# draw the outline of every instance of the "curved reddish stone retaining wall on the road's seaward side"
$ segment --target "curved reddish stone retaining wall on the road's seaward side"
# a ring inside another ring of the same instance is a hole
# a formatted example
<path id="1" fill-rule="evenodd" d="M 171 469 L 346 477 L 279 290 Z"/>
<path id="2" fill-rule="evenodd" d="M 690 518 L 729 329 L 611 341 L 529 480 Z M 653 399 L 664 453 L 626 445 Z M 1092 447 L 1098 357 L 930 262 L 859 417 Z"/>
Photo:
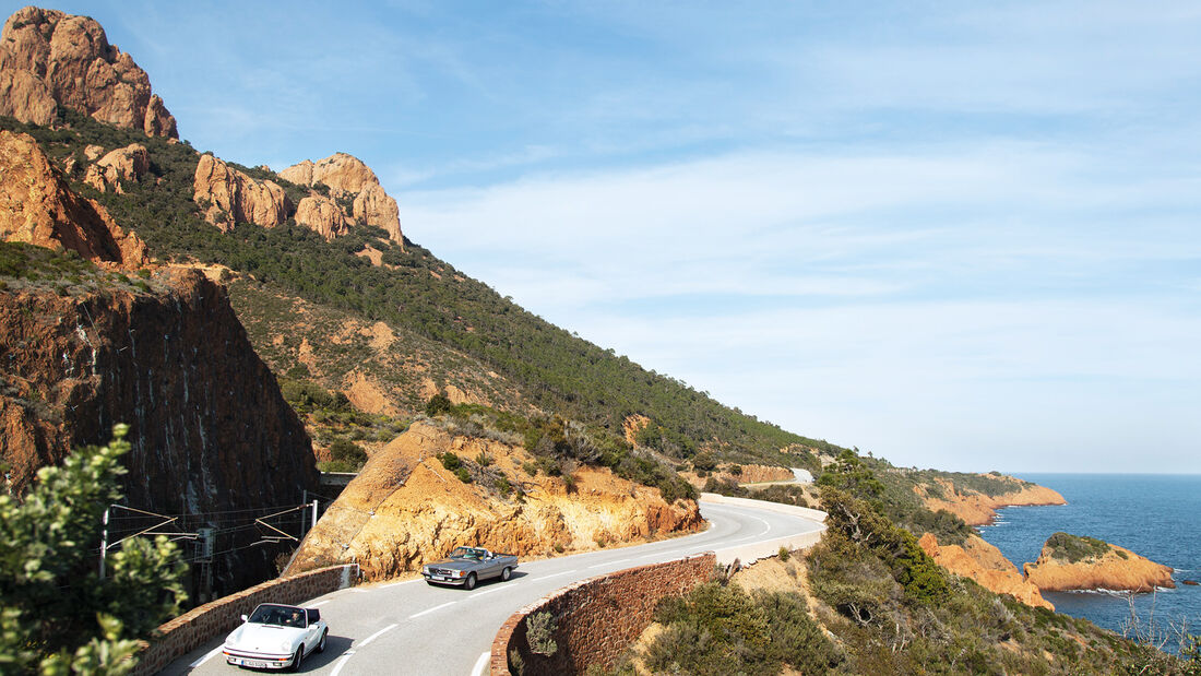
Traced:
<path id="1" fill-rule="evenodd" d="M 685 594 L 713 576 L 713 554 L 667 563 L 627 568 L 600 575 L 532 603 L 513 614 L 492 641 L 491 674 L 509 674 L 509 651 L 516 650 L 526 676 L 584 674 L 588 665 L 605 669 L 651 623 L 659 599 Z M 549 612 L 555 618 L 552 638 L 558 646 L 545 657 L 530 650 L 526 617 Z"/>

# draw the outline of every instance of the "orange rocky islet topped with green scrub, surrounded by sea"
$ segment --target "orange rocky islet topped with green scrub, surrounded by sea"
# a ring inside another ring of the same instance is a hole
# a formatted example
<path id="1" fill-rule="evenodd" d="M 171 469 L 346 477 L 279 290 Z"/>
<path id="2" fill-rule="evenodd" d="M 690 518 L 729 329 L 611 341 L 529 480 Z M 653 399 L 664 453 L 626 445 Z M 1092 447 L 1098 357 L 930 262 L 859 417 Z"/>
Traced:
<path id="1" fill-rule="evenodd" d="M 1047 538 L 1039 560 L 1024 566 L 1026 579 L 1045 592 L 1125 590 L 1149 592 L 1176 586 L 1172 569 L 1137 554 L 1068 533 Z"/>

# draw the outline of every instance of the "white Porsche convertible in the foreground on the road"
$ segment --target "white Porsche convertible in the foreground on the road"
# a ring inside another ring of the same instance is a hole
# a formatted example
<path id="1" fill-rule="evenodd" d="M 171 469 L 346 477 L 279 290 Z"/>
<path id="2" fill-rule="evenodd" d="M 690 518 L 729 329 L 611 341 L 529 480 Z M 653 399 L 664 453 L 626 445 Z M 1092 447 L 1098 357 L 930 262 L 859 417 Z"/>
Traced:
<path id="1" fill-rule="evenodd" d="M 229 664 L 295 671 L 305 656 L 325 650 L 329 627 L 317 609 L 264 603 L 241 620 L 221 648 Z"/>

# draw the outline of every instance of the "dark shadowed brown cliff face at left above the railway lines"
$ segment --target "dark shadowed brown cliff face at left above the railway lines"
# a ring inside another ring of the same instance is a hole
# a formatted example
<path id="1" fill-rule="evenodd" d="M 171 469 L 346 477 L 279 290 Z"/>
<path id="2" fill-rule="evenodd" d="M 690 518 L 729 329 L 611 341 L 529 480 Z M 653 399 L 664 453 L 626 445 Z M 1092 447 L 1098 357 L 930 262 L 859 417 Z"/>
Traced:
<path id="1" fill-rule="evenodd" d="M 225 289 L 186 268 L 150 283 L 150 292 L 0 291 L 0 459 L 11 466 L 10 490 L 127 423 L 125 504 L 204 515 L 181 520 L 184 530 L 227 530 L 232 510 L 299 505 L 318 484 L 311 442 Z M 262 534 L 247 527 L 219 537 L 215 592 L 275 575 L 285 548 L 251 544 Z"/>

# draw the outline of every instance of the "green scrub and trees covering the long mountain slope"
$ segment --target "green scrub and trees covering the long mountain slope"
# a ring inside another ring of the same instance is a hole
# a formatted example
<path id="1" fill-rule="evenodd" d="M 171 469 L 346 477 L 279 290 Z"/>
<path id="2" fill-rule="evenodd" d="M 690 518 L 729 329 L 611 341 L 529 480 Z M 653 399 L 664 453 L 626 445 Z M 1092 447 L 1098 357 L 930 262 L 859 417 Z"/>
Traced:
<path id="1" fill-rule="evenodd" d="M 489 388 L 495 390 L 489 401 L 498 407 L 555 413 L 609 436 L 621 435 L 627 415 L 646 415 L 652 421 L 645 435 L 649 447 L 669 457 L 687 459 L 713 449 L 730 461 L 779 465 L 788 460 L 779 449 L 790 444 L 837 450 L 722 406 L 680 381 L 579 339 L 462 275 L 428 250 L 411 241 L 401 247 L 380 228 L 359 227 L 327 241 L 289 219 L 275 228 L 239 223 L 222 233 L 202 220 L 192 202 L 199 152 L 186 142 L 147 138 L 66 109 L 60 114 L 67 124 L 56 130 L 12 119 L 0 120 L 0 128 L 30 133 L 48 155 L 62 166 L 73 166 L 73 187 L 136 231 L 151 255 L 227 267 L 246 280 L 243 286 L 232 285 L 232 292 L 239 318 L 264 353 L 270 353 L 267 341 L 274 336 L 261 330 L 269 319 L 262 300 L 268 294 L 303 299 L 327 312 L 383 322 L 396 335 L 407 336 L 398 349 L 420 343 L 440 367 L 470 367 L 478 378 L 491 372 L 496 376 L 491 381 L 502 383 Z M 124 195 L 100 192 L 82 183 L 85 146 L 113 149 L 135 142 L 147 148 L 150 173 L 141 181 L 123 183 Z M 74 162 L 68 162 L 72 158 Z M 304 195 L 303 189 L 264 168 L 238 168 L 283 186 L 293 202 Z M 378 252 L 380 265 L 358 256 L 368 247 Z M 313 335 L 324 339 L 328 334 L 315 328 Z M 271 363 L 279 375 L 297 365 L 285 358 Z M 325 376 L 333 383 L 345 373 Z M 398 406 L 411 413 L 423 403 L 420 397 L 410 397 Z"/>

